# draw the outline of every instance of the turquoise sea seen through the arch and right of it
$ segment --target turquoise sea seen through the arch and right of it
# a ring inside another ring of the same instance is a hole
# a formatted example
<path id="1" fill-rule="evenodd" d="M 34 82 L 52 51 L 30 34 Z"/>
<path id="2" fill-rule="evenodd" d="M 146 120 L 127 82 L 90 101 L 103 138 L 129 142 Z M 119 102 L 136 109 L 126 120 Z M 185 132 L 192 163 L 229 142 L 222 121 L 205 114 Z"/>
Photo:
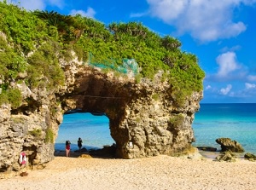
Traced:
<path id="1" fill-rule="evenodd" d="M 246 153 L 256 153 L 256 104 L 201 104 L 192 124 L 195 147 L 217 147 L 220 137 L 238 141 Z M 65 141 L 71 141 L 77 150 L 79 137 L 86 149 L 102 148 L 114 143 L 106 116 L 90 113 L 65 114 L 55 141 L 55 150 L 65 150 Z"/>

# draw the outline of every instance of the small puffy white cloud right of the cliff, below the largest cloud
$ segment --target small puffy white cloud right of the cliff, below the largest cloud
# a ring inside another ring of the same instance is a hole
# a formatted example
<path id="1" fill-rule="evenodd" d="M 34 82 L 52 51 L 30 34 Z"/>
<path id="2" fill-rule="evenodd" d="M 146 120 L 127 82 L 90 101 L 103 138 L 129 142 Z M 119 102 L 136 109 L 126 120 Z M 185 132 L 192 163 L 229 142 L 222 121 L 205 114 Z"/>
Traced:
<path id="1" fill-rule="evenodd" d="M 219 78 L 227 78 L 230 72 L 234 72 L 236 69 L 240 68 L 234 52 L 229 51 L 222 55 L 218 55 L 216 61 L 219 66 L 217 73 Z"/>

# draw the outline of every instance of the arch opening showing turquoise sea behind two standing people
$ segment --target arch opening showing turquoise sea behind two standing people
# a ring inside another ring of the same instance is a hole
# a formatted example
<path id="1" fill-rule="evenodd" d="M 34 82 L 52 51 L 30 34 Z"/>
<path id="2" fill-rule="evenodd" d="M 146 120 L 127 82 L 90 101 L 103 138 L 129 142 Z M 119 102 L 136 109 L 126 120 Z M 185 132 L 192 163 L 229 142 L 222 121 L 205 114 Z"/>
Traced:
<path id="1" fill-rule="evenodd" d="M 82 139 L 82 153 L 110 147 L 115 141 L 110 135 L 109 118 L 102 112 L 67 112 L 55 140 L 55 152 L 65 151 L 65 142 L 71 142 L 71 151 L 79 152 L 78 140 Z"/>

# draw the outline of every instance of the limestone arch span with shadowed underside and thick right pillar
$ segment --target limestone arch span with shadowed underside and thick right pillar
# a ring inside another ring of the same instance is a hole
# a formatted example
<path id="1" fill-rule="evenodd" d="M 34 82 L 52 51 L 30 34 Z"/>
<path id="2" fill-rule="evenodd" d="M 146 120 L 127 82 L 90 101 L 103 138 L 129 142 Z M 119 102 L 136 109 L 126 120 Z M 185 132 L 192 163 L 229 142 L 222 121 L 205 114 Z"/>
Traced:
<path id="1" fill-rule="evenodd" d="M 104 112 L 119 158 L 174 155 L 195 141 L 191 124 L 199 109 L 201 92 L 177 106 L 170 84 L 120 76 L 84 67 L 75 75 L 72 92 L 60 96 L 64 111 Z"/>

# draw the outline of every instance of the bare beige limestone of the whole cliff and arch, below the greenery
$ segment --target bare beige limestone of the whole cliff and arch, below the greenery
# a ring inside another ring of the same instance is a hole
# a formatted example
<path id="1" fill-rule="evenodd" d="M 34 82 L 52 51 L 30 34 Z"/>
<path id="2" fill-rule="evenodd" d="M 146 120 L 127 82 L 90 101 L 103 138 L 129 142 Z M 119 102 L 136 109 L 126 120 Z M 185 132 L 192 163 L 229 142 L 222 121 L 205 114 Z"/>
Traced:
<path id="1" fill-rule="evenodd" d="M 202 93 L 195 92 L 177 106 L 170 84 L 159 77 L 136 83 L 129 75 L 118 76 L 77 60 L 61 61 L 66 83 L 58 90 L 22 91 L 23 104 L 0 108 L 0 170 L 20 170 L 25 151 L 29 165 L 38 168 L 54 158 L 54 143 L 64 112 L 104 112 L 120 158 L 143 158 L 181 153 L 195 141 L 191 124 Z M 160 74 L 160 73 L 159 73 Z"/>

